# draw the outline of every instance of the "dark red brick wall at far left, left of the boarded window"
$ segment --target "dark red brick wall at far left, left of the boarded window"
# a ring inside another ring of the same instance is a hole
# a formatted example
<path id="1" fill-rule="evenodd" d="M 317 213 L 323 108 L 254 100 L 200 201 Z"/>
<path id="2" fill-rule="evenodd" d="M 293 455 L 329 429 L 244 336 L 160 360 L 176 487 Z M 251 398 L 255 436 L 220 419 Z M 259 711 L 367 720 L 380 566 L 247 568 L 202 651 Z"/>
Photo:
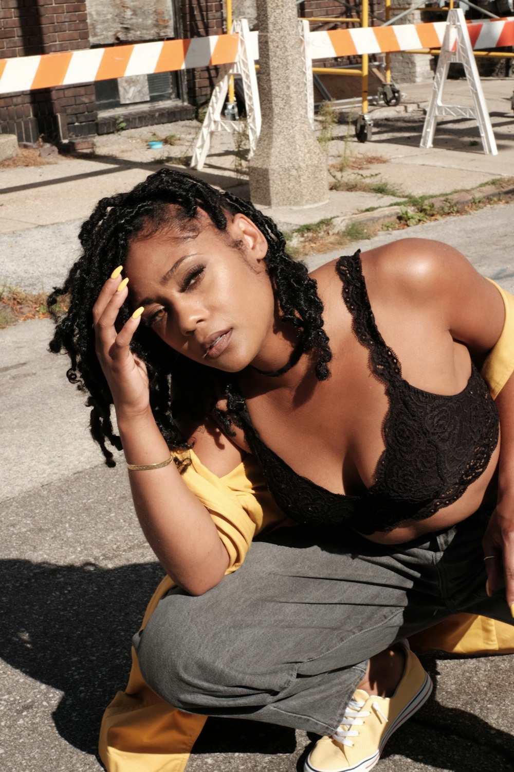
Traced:
<path id="1" fill-rule="evenodd" d="M 85 2 L 0 0 L 0 58 L 87 48 Z M 0 131 L 20 142 L 94 134 L 95 121 L 92 84 L 0 97 Z"/>

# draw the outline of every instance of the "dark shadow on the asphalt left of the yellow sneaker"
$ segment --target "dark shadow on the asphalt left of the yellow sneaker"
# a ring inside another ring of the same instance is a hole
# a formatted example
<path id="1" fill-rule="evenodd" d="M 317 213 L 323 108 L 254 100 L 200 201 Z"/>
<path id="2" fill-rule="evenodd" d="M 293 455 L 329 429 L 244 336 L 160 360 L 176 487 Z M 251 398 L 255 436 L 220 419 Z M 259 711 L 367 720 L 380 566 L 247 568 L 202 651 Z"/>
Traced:
<path id="1" fill-rule="evenodd" d="M 157 563 L 103 568 L 0 560 L 0 657 L 63 692 L 66 742 L 96 754 L 102 713 L 129 676 L 130 641 L 163 576 Z M 292 753 L 294 730 L 210 720 L 195 753 Z"/>

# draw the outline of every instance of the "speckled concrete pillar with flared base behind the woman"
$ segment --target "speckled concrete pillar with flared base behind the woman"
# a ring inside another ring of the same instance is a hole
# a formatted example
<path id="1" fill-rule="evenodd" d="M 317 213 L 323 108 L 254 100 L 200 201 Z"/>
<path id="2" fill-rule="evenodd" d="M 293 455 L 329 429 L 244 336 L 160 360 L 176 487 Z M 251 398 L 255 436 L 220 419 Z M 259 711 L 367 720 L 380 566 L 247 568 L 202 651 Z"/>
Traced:
<path id="1" fill-rule="evenodd" d="M 262 128 L 249 166 L 250 198 L 265 206 L 328 200 L 327 158 L 307 120 L 294 0 L 257 0 Z"/>

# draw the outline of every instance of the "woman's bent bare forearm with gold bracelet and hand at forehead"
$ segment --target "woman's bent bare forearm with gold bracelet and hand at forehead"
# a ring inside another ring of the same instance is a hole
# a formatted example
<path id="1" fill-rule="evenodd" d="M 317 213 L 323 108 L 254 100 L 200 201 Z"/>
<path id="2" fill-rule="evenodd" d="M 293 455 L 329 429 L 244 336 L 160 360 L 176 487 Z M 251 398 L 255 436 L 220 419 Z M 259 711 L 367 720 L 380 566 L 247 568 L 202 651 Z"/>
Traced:
<path id="1" fill-rule="evenodd" d="M 170 451 L 149 407 L 146 368 L 129 344 L 139 318 L 115 328 L 126 286 L 108 279 L 93 307 L 96 354 L 106 375 L 116 409 L 126 461 L 163 462 Z M 219 449 L 223 453 L 223 449 Z M 161 469 L 129 471 L 134 505 L 150 547 L 176 584 L 190 594 L 203 594 L 223 577 L 228 554 L 208 510 L 186 487 L 172 462 Z"/>

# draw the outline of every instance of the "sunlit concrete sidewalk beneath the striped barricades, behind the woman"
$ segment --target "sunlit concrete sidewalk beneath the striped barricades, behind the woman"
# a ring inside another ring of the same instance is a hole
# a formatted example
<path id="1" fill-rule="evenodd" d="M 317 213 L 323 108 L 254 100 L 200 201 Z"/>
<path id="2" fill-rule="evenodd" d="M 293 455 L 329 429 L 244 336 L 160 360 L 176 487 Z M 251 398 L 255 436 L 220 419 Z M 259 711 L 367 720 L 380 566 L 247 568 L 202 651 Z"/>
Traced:
<path id="1" fill-rule="evenodd" d="M 328 168 L 336 180 L 341 182 L 342 178 L 344 184 L 356 178 L 361 182 L 357 187 L 375 186 L 386 192 L 333 190 L 329 201 L 321 206 L 264 211 L 284 229 L 293 229 L 321 218 L 344 218 L 369 207 L 385 207 L 407 195 L 442 195 L 477 188 L 491 179 L 509 178 L 514 175 L 510 104 L 513 84 L 514 80 L 509 79 L 482 81 L 498 155 L 483 153 L 478 128 L 465 119 L 440 121 L 435 147 L 421 149 L 419 141 L 432 84 L 408 84 L 400 86 L 402 101 L 398 107 L 371 107 L 371 142 L 360 144 L 354 137 L 348 121 L 358 114 L 355 109 L 341 114 L 341 123 L 334 127 L 328 145 Z M 467 81 L 448 80 L 445 101 L 470 103 Z M 320 127 L 317 119 L 318 131 Z M 181 162 L 190 156 L 199 129 L 196 121 L 133 129 L 96 137 L 94 151 L 82 151 L 73 158 L 59 156 L 55 162 L 36 168 L 0 168 L 0 232 L 86 218 L 102 196 L 126 191 L 163 163 Z M 175 135 L 175 144 L 150 150 L 147 142 L 153 131 L 160 137 Z M 338 168 L 344 166 L 345 156 L 351 164 L 341 174 Z M 236 174 L 230 134 L 214 135 L 207 163 L 198 174 L 213 185 L 248 195 L 247 182 Z"/>

